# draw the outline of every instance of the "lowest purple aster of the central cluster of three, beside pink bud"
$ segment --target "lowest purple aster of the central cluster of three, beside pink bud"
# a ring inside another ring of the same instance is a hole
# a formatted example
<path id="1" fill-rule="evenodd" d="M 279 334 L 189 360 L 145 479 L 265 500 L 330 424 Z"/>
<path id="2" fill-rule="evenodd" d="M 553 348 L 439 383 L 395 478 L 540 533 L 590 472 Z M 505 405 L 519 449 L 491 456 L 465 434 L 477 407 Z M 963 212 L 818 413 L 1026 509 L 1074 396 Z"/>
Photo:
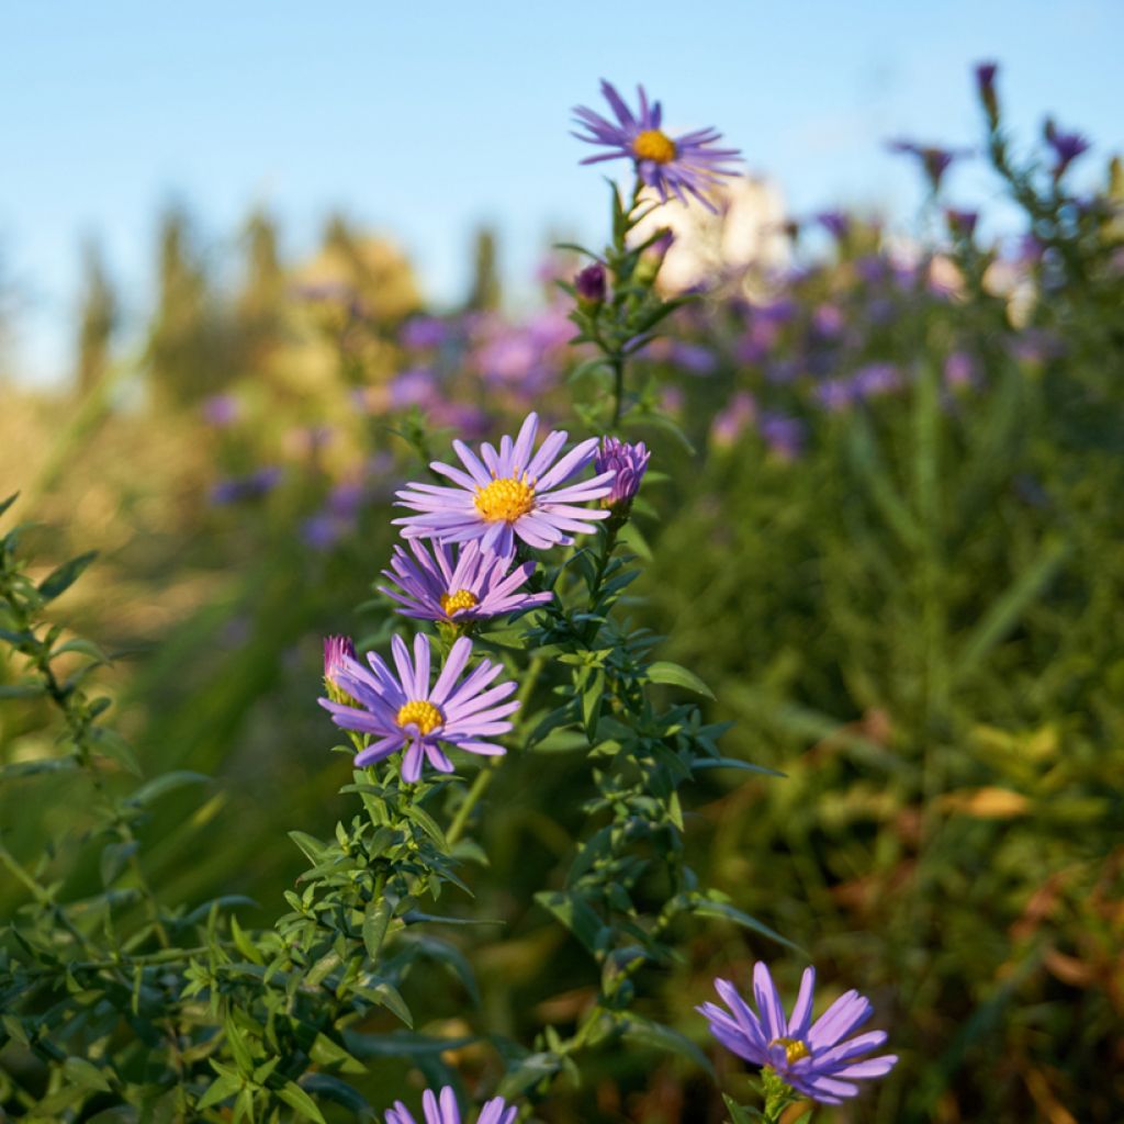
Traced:
<path id="1" fill-rule="evenodd" d="M 343 670 L 335 672 L 334 682 L 357 706 L 319 699 L 337 726 L 374 738 L 355 755 L 356 765 L 370 765 L 405 750 L 402 780 L 416 781 L 426 758 L 438 772 L 453 771 L 442 743 L 486 756 L 507 752 L 502 745 L 486 741 L 508 733 L 511 723 L 506 720 L 507 716 L 519 708 L 518 701 L 504 701 L 514 694 L 514 682 L 486 690 L 504 670 L 502 664 L 481 660 L 457 682 L 472 654 L 472 641 L 462 636 L 453 644 L 437 682 L 430 687 L 428 636 L 419 633 L 414 637 L 413 660 L 401 637 L 392 637 L 390 649 L 395 671 L 373 652 L 366 658 L 370 670 L 357 660 L 343 656 Z"/>

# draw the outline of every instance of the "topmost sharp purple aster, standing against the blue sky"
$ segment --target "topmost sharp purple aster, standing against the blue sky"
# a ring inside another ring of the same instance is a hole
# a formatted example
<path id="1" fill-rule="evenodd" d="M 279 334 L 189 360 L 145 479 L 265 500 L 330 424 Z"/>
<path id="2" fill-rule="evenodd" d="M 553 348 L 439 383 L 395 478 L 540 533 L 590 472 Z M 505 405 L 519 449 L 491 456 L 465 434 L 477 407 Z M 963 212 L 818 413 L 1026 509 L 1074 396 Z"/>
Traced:
<path id="1" fill-rule="evenodd" d="M 678 137 L 668 136 L 662 128 L 660 102 L 650 103 L 644 87 L 636 89 L 640 111 L 634 115 L 614 87 L 601 80 L 601 93 L 616 116 L 616 124 L 584 106 L 574 108 L 574 123 L 587 132 L 573 135 L 587 144 L 609 149 L 588 156 L 582 163 L 596 164 L 623 156 L 633 162 L 641 181 L 658 192 L 661 202 L 667 202 L 668 197 L 673 194 L 686 203 L 689 193 L 707 210 L 717 212 L 706 192 L 722 176 L 738 174 L 736 169 L 727 165 L 727 161 L 738 160 L 741 153 L 736 148 L 715 148 L 714 143 L 722 138 L 717 129 L 696 129 Z"/>

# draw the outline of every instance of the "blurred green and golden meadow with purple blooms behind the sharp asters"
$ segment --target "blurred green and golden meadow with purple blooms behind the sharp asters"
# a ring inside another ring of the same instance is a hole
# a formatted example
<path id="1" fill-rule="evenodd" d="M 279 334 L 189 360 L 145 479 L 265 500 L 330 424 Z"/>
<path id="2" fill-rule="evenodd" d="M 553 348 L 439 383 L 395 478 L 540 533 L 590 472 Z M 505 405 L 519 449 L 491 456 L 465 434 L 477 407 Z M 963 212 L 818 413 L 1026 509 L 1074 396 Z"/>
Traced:
<path id="1" fill-rule="evenodd" d="M 839 1118 L 1108 1124 L 1124 1104 L 1124 192 L 1113 165 L 1075 196 L 998 118 L 988 139 L 1026 217 L 1017 250 L 945 223 L 939 194 L 908 254 L 835 221 L 830 253 L 798 241 L 791 268 L 711 279 L 637 364 L 634 416 L 661 401 L 691 448 L 641 430 L 662 479 L 645 483 L 635 549 L 653 561 L 632 611 L 713 688 L 709 717 L 735 722 L 724 752 L 787 774 L 714 773 L 688 809 L 694 865 L 808 950 L 825 988 L 871 996 L 901 1055 Z M 6 390 L 0 418 L 0 492 L 24 487 L 55 528 L 39 545 L 107 555 L 63 604 L 120 650 L 108 687 L 143 768 L 215 777 L 145 828 L 148 877 L 176 899 L 246 894 L 248 922 L 302 869 L 285 832 L 346 815 L 339 759 L 317 750 L 333 741 L 319 642 L 392 627 L 370 599 L 393 487 L 426 443 L 443 455 L 453 432 L 561 411 L 575 370 L 597 393 L 558 307 L 495 311 L 487 236 L 465 309 L 439 317 L 343 220 L 303 266 L 275 246 L 256 216 L 228 293 L 170 215 L 134 354 L 114 346 L 91 256 L 74 397 Z M 46 755 L 48 731 L 34 700 L 6 701 L 0 762 Z M 410 997 L 427 1033 L 526 1043 L 591 1001 L 580 948 L 534 904 L 572 858 L 581 764 L 510 754 L 497 774 L 473 908 L 506 927 L 461 942 L 478 1006 L 444 978 Z M 74 791 L 0 788 L 4 845 L 40 851 Z M 0 881 L 0 916 L 25 896 Z M 720 923 L 680 939 L 681 962 L 638 984 L 736 1095 L 694 1006 L 760 957 L 795 990 L 804 962 Z M 472 1045 L 452 1060 L 495 1066 Z M 388 1102 L 409 1085 L 387 1063 L 375 1077 Z M 720 1114 L 698 1069 L 644 1050 L 543 1109 Z"/>

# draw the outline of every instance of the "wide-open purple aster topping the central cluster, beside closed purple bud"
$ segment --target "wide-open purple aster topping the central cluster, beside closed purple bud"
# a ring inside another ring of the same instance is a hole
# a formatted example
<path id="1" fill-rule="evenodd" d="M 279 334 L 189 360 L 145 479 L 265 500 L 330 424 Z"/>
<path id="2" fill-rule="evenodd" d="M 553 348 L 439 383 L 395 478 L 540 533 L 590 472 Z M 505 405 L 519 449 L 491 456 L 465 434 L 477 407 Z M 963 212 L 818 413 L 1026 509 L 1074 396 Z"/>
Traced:
<path id="1" fill-rule="evenodd" d="M 420 513 L 395 519 L 402 536 L 443 543 L 479 540 L 486 553 L 507 558 L 515 552 L 516 536 L 528 546 L 545 550 L 569 545 L 572 534 L 591 532 L 591 523 L 609 513 L 577 505 L 608 496 L 615 473 L 560 486 L 593 460 L 597 438 L 581 442 L 555 464 L 565 444 L 565 430 L 550 433 L 532 454 L 537 433 L 538 416 L 528 414 L 514 442 L 510 437 L 500 441 L 499 452 L 484 443 L 478 457 L 463 442 L 454 441 L 453 450 L 464 469 L 436 461 L 429 468 L 452 480 L 455 488 L 410 483 L 397 493 L 398 507 Z"/>

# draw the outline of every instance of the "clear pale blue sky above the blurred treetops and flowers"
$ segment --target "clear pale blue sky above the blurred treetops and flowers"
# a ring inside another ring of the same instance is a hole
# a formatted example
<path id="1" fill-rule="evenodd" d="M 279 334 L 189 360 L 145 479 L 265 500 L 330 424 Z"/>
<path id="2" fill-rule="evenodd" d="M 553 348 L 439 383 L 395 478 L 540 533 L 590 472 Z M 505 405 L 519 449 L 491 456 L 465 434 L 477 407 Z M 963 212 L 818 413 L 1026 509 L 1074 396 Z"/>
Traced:
<path id="1" fill-rule="evenodd" d="M 602 75 L 643 81 L 672 129 L 718 126 L 797 214 L 905 218 L 916 181 L 882 142 L 975 142 L 985 57 L 1024 136 L 1053 111 L 1095 139 L 1091 174 L 1124 146 L 1122 44 L 1122 0 L 8 3 L 0 277 L 22 293 L 18 366 L 45 379 L 67 362 L 84 236 L 144 312 L 171 198 L 218 255 L 255 203 L 293 253 L 342 208 L 454 299 L 481 220 L 511 282 L 547 229 L 598 236 L 598 170 L 577 166 L 568 128 Z M 972 169 L 951 187 L 966 202 L 994 190 Z"/>

